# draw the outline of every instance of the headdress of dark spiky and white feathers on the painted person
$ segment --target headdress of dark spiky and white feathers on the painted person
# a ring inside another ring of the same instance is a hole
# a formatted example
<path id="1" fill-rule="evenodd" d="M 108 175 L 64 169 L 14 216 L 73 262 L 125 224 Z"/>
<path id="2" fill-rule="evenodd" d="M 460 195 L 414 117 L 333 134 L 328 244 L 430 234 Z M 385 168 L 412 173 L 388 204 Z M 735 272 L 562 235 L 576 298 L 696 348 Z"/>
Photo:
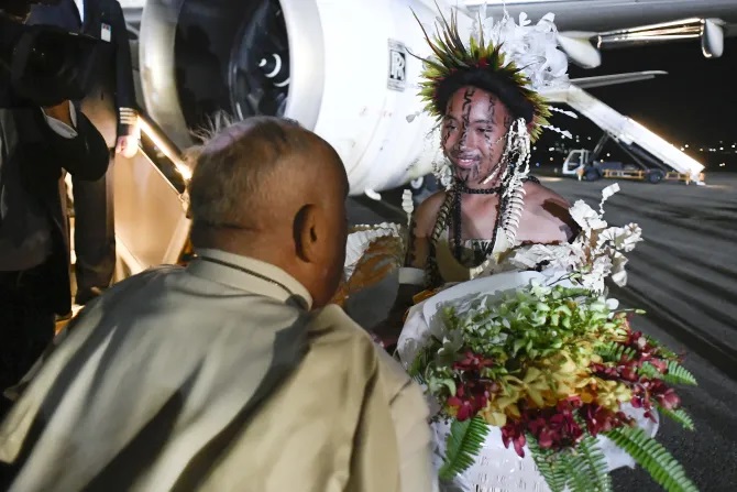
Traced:
<path id="1" fill-rule="evenodd" d="M 419 19 L 415 14 L 415 19 Z M 421 58 L 425 67 L 420 97 L 426 111 L 441 118 L 454 88 L 462 85 L 481 86 L 494 92 L 518 118 L 530 125 L 532 141 L 548 125 L 551 112 L 540 94 L 568 83 L 568 59 L 557 48 L 553 15 L 544 15 L 536 25 L 522 13 L 519 25 L 505 13 L 495 23 L 480 10 L 468 44 L 459 33 L 458 15 L 450 20 L 442 13 L 431 39 L 422 32 L 433 55 Z"/>

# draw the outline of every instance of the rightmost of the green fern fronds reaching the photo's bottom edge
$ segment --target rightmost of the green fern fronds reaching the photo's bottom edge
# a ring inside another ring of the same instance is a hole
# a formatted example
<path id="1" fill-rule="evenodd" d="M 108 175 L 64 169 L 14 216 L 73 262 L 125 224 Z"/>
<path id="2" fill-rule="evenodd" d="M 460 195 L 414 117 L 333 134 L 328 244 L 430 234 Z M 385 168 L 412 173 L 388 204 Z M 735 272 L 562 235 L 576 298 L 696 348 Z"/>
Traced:
<path id="1" fill-rule="evenodd" d="M 683 467 L 657 440 L 639 427 L 618 427 L 605 433 L 668 492 L 698 492 Z"/>

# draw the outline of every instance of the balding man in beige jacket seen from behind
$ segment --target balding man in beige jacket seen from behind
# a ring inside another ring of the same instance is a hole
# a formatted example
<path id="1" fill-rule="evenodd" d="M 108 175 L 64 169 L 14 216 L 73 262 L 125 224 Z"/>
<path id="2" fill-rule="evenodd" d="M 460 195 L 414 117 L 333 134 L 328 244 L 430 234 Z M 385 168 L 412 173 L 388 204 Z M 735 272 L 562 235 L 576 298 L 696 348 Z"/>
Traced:
<path id="1" fill-rule="evenodd" d="M 72 321 L 0 426 L 9 490 L 435 490 L 419 387 L 326 306 L 346 234 L 336 151 L 254 118 L 191 157 L 197 258 Z"/>

